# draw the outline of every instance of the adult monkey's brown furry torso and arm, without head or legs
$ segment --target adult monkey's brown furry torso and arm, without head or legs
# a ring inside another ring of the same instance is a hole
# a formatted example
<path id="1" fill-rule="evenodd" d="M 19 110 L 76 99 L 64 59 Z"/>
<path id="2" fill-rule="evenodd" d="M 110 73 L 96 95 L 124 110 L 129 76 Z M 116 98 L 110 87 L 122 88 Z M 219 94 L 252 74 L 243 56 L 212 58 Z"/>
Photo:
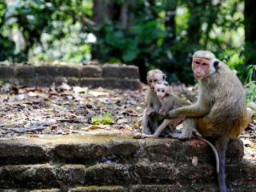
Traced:
<path id="1" fill-rule="evenodd" d="M 238 138 L 250 123 L 250 111 L 241 82 L 224 63 L 218 70 L 199 82 L 198 102 L 170 111 L 172 118 L 181 115 L 197 118 L 197 129 L 203 137 L 218 138 L 227 134 L 230 140 Z"/>

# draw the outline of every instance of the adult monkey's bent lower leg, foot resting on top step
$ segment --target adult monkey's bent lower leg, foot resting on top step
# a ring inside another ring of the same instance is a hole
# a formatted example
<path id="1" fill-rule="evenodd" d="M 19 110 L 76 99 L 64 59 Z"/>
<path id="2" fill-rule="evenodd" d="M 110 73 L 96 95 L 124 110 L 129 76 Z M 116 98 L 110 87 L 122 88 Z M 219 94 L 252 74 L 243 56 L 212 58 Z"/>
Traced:
<path id="1" fill-rule="evenodd" d="M 170 137 L 172 138 L 179 138 L 179 139 L 185 139 L 185 138 L 191 138 L 193 130 L 196 129 L 196 119 L 195 118 L 186 118 L 182 125 L 182 133 L 174 133 L 170 134 Z"/>

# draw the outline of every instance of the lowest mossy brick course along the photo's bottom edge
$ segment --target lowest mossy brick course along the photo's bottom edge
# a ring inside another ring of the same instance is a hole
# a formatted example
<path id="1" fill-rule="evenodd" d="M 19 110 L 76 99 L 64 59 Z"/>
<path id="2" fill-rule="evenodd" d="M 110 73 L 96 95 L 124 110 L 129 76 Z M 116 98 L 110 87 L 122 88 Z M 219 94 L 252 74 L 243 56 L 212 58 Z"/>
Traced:
<path id="1" fill-rule="evenodd" d="M 248 185 L 242 187 L 233 187 L 235 192 L 254 192 L 256 185 Z M 1 192 L 218 192 L 218 188 L 214 184 L 206 185 L 134 185 L 134 186 L 76 186 L 67 190 L 59 189 L 42 189 L 42 190 L 1 190 Z"/>

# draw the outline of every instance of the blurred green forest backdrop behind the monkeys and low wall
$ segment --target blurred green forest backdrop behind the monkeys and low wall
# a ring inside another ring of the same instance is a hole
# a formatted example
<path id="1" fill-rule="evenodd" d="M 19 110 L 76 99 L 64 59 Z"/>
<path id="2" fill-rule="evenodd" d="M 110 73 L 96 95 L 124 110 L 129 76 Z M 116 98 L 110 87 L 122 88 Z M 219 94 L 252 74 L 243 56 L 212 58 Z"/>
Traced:
<path id="1" fill-rule="evenodd" d="M 254 81 L 256 11 L 252 0 L 1 0 L 0 61 L 97 59 L 160 68 L 193 84 L 195 50 L 210 50 L 243 82 Z M 250 75 L 250 78 L 248 78 Z"/>

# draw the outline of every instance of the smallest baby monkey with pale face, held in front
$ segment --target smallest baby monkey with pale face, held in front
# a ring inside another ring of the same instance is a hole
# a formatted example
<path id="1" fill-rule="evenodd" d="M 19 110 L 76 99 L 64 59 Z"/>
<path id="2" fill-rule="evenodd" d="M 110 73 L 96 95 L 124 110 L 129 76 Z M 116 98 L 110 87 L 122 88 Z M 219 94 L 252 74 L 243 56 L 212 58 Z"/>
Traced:
<path id="1" fill-rule="evenodd" d="M 154 84 L 154 93 L 158 97 L 159 102 L 161 103 L 160 109 L 158 111 L 154 111 L 155 114 L 159 114 L 160 116 L 166 116 L 169 110 L 174 110 L 180 107 L 180 103 L 178 98 L 174 97 L 171 94 L 171 86 L 168 82 L 162 81 Z M 170 128 L 170 131 L 174 133 L 176 126 L 181 124 L 183 118 L 174 118 L 174 119 L 164 119 L 163 122 L 158 126 L 158 128 L 154 131 L 154 134 L 144 134 L 142 133 L 142 138 L 158 138 L 166 127 Z"/>

